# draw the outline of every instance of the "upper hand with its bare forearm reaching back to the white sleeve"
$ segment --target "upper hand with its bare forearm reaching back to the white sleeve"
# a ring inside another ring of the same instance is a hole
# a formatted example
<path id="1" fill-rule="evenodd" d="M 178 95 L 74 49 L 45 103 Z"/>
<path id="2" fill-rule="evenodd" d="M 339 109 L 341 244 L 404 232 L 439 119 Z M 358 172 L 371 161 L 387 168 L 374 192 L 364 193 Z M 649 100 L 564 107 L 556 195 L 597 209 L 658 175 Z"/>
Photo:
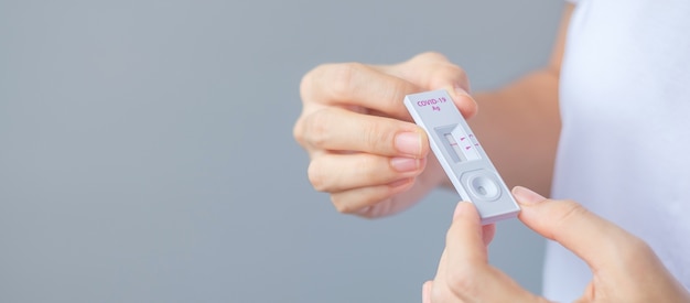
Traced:
<path id="1" fill-rule="evenodd" d="M 314 188 L 330 193 L 341 213 L 380 217 L 406 209 L 433 188 L 450 187 L 425 133 L 402 105 L 405 95 L 446 89 L 506 183 L 547 194 L 560 131 L 558 76 L 572 9 L 565 9 L 549 64 L 497 91 L 468 95 L 465 72 L 438 53 L 395 65 L 324 64 L 309 72 L 293 134 L 311 158 L 308 175 Z"/>

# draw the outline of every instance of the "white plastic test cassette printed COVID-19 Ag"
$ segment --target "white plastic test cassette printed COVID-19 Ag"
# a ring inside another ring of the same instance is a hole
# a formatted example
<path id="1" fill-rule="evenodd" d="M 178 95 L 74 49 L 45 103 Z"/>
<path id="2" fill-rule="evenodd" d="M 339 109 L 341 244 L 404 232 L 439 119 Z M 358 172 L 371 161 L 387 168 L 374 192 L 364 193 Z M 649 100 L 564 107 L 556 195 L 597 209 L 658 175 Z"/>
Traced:
<path id="1" fill-rule="evenodd" d="M 427 131 L 445 174 L 460 196 L 475 205 L 483 225 L 517 216 L 520 207 L 445 90 L 408 95 L 405 106 Z"/>

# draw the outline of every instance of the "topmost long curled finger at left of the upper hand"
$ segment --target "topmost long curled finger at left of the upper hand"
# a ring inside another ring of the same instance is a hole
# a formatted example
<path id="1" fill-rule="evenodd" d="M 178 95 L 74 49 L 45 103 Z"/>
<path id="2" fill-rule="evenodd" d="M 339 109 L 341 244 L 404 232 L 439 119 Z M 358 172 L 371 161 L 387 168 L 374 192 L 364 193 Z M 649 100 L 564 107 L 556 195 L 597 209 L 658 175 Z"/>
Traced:
<path id="1" fill-rule="evenodd" d="M 325 105 L 360 106 L 410 121 L 402 100 L 422 89 L 410 82 L 359 63 L 317 66 L 302 79 L 304 100 Z"/>

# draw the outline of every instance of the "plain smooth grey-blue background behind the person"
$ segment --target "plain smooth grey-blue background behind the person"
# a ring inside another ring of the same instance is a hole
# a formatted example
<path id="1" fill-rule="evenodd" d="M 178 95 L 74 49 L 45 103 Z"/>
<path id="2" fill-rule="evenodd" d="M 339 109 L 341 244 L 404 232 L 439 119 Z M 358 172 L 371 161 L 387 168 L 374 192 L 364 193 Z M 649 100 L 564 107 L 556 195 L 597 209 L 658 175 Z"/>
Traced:
<path id="1" fill-rule="evenodd" d="M 337 214 L 292 139 L 325 62 L 434 50 L 475 90 L 546 62 L 533 1 L 0 1 L 1 302 L 419 302 L 453 193 Z M 539 291 L 542 241 L 494 264 Z"/>

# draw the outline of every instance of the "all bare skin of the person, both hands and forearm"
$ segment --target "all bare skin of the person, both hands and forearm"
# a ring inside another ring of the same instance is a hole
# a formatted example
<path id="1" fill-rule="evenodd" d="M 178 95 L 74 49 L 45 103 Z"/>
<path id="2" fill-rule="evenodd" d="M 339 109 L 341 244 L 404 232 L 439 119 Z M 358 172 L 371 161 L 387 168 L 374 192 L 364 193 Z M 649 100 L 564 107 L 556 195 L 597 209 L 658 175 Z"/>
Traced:
<path id="1" fill-rule="evenodd" d="M 572 11 L 569 4 L 563 12 L 549 63 L 496 91 L 470 95 L 464 71 L 438 53 L 395 65 L 325 64 L 309 72 L 293 133 L 310 155 L 314 188 L 328 193 L 338 212 L 373 218 L 450 187 L 427 136 L 402 105 L 408 94 L 446 89 L 506 183 L 535 188 L 514 191 L 520 220 L 592 269 L 580 301 L 690 301 L 644 241 L 574 202 L 537 194 L 550 192 L 561 126 L 558 83 Z M 494 232 L 495 226 L 482 227 L 476 209 L 461 203 L 439 272 L 423 286 L 424 302 L 546 302 L 488 266 L 486 246 Z"/>

